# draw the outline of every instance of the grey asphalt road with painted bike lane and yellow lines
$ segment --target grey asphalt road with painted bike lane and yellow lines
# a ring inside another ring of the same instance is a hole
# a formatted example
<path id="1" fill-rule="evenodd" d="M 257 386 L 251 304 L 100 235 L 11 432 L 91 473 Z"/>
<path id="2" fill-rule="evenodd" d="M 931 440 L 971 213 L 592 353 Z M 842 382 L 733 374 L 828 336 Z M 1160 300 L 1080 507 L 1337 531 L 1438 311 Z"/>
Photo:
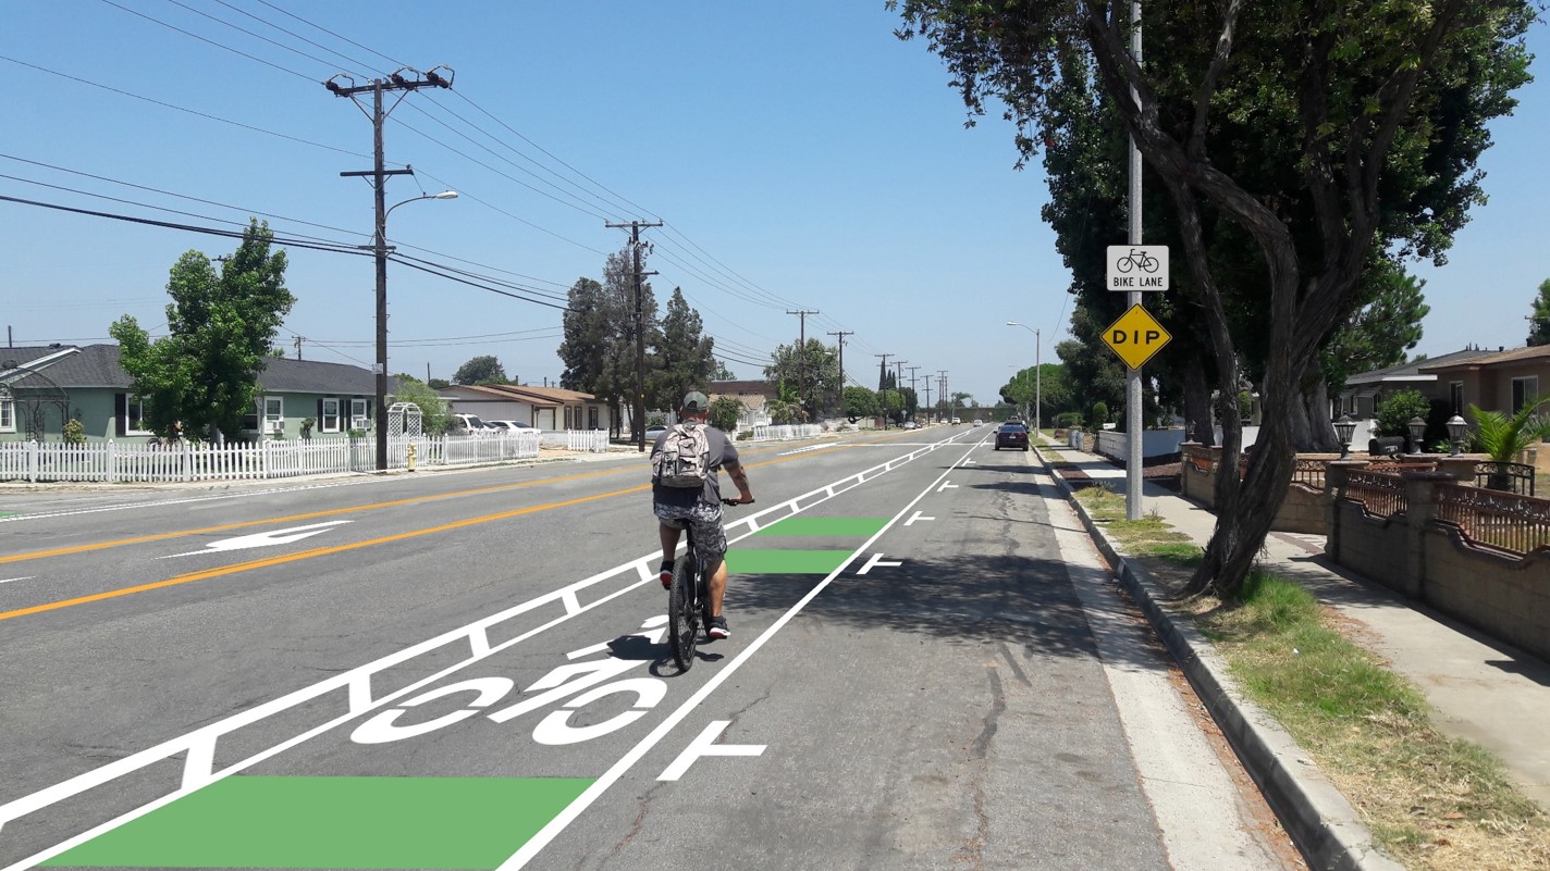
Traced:
<path id="1" fill-rule="evenodd" d="M 684 674 L 639 456 L 0 491 L 0 868 L 1294 866 L 987 437 L 746 446 Z"/>

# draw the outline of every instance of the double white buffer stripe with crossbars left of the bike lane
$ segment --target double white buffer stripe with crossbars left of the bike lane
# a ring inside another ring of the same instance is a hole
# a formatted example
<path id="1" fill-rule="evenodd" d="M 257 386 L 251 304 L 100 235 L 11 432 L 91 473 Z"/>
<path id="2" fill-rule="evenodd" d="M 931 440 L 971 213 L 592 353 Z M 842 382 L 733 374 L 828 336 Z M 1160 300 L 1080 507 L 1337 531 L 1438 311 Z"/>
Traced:
<path id="1" fill-rule="evenodd" d="M 959 436 L 963 436 L 963 434 L 959 434 Z M 959 436 L 950 436 L 950 437 L 947 437 L 947 439 L 944 439 L 941 442 L 935 442 L 935 443 L 927 445 L 924 448 L 918 448 L 914 451 L 910 451 L 908 454 L 902 454 L 902 456 L 894 457 L 894 459 L 891 459 L 891 460 L 888 460 L 885 463 L 879 463 L 876 466 L 866 468 L 866 470 L 859 471 L 856 474 L 849 474 L 849 476 L 842 477 L 840 480 L 837 480 L 834 484 L 829 484 L 829 485 L 811 490 L 808 493 L 803 493 L 801 496 L 797 496 L 794 499 L 787 499 L 786 502 L 781 502 L 778 505 L 772 505 L 772 507 L 764 508 L 763 511 L 758 511 L 755 515 L 749 515 L 747 518 L 744 518 L 741 521 L 735 521 L 732 524 L 727 524 L 728 528 L 735 528 L 735 527 L 739 527 L 739 525 L 744 525 L 744 524 L 749 527 L 749 532 L 746 532 L 744 535 L 739 535 L 736 538 L 728 539 L 728 542 L 742 541 L 744 538 L 753 535 L 755 532 L 758 532 L 761 528 L 767 528 L 769 525 L 772 525 L 772 524 L 775 524 L 778 521 L 783 521 L 783 519 L 786 519 L 789 516 L 795 516 L 795 515 L 798 515 L 798 513 L 801 513 L 801 511 L 804 511 L 808 508 L 812 508 L 814 505 L 826 502 L 826 501 L 832 499 L 834 496 L 837 496 L 840 493 L 845 493 L 848 490 L 860 487 L 862 484 L 865 484 L 865 482 L 868 482 L 868 480 L 871 480 L 874 477 L 879 477 L 882 474 L 887 474 L 887 473 L 893 471 L 894 468 L 899 468 L 901 465 L 905 465 L 905 463 L 908 463 L 911 460 L 916 460 L 916 459 L 919 459 L 919 457 L 922 457 L 925 454 L 930 454 L 930 453 L 933 453 L 933 451 L 936 451 L 939 448 L 947 448 Z M 956 466 L 958 463 L 953 463 L 953 465 Z M 769 519 L 773 515 L 780 515 L 780 516 L 775 516 L 773 519 Z M 891 525 L 891 522 L 890 522 L 890 525 Z M 887 528 L 887 527 L 884 527 L 884 528 Z M 9 866 L 6 866 L 6 868 L 3 868 L 0 871 L 23 871 L 26 868 L 33 868 L 34 865 L 42 863 L 42 862 L 45 862 L 48 859 L 53 859 L 54 856 L 59 856 L 60 852 L 65 852 L 67 849 L 79 846 L 79 845 L 82 845 L 82 843 L 85 843 L 85 842 L 98 837 L 99 834 L 112 831 L 112 829 L 115 829 L 115 828 L 118 828 L 118 826 L 121 826 L 124 823 L 129 823 L 132 820 L 144 817 L 144 815 L 150 814 L 152 811 L 164 807 L 166 804 L 170 804 L 172 801 L 175 801 L 175 800 L 178 800 L 178 798 L 191 794 L 191 792 L 194 792 L 194 790 L 197 790 L 197 789 L 200 789 L 203 786 L 208 786 L 208 784 L 211 784 L 211 783 L 214 783 L 217 780 L 222 780 L 222 778 L 226 778 L 229 775 L 239 773 L 239 772 L 242 772 L 245 769 L 250 769 L 250 767 L 253 767 L 253 766 L 256 766 L 256 764 L 259 764 L 262 761 L 267 761 L 267 759 L 270 759 L 273 756 L 277 756 L 279 753 L 284 753 L 285 750 L 290 750 L 290 749 L 293 749 L 293 747 L 296 747 L 296 745 L 299 745 L 299 744 L 302 744 L 305 741 L 310 741 L 312 738 L 316 738 L 316 736 L 319 736 L 319 735 L 322 735 L 322 733 L 326 733 L 326 732 L 329 732 L 332 728 L 336 728 L 336 727 L 339 727 L 339 725 L 343 725 L 343 724 L 346 724 L 346 722 L 349 722 L 352 719 L 356 719 L 363 713 L 367 713 L 367 711 L 372 711 L 372 710 L 377 710 L 377 708 L 383 708 L 383 707 L 386 707 L 386 705 L 389 705 L 389 704 L 392 704 L 392 702 L 398 701 L 398 699 L 403 699 L 403 697 L 409 696 L 411 693 L 417 693 L 418 690 L 425 688 L 429 683 L 434 683 L 434 682 L 442 680 L 442 679 L 445 679 L 445 677 L 448 677 L 451 674 L 456 674 L 457 671 L 462 671 L 463 668 L 467 668 L 470 665 L 482 662 L 482 660 L 488 659 L 490 656 L 494 656 L 494 654 L 498 654 L 498 652 L 501 652 L 501 651 L 504 651 L 504 649 L 507 649 L 507 648 L 510 648 L 510 646 L 513 646 L 516 643 L 525 642 L 525 640 L 532 639 L 533 635 L 538 635 L 539 632 L 544 632 L 544 631 L 547 631 L 547 629 L 550 629 L 553 626 L 558 626 L 560 623 L 564 623 L 566 620 L 570 620 L 570 618 L 574 618 L 574 617 L 577 617 L 577 615 L 580 615 L 580 614 L 583 614 L 586 611 L 591 611 L 591 609 L 598 608 L 601 604 L 606 604 L 606 603 L 609 603 L 609 601 L 612 601 L 612 600 L 615 600 L 615 598 L 618 598 L 622 595 L 626 595 L 626 594 L 636 590 L 637 587 L 640 587 L 642 584 L 646 584 L 648 581 L 654 581 L 656 580 L 654 572 L 651 572 L 651 569 L 649 569 L 649 563 L 653 559 L 659 558 L 659 556 L 660 556 L 659 553 L 648 553 L 645 556 L 639 556 L 636 559 L 623 563 L 622 566 L 615 566 L 614 569 L 606 569 L 606 570 L 598 572 L 598 573 L 595 573 L 595 575 L 592 575 L 589 578 L 584 578 L 581 581 L 575 581 L 570 586 L 552 590 L 552 592 L 544 594 L 541 597 L 532 598 L 532 600 L 529 600 L 525 603 L 516 604 L 513 608 L 508 608 L 505 611 L 501 611 L 498 614 L 493 614 L 490 617 L 485 617 L 482 620 L 470 623 L 470 625 L 467 625 L 467 626 L 463 626 L 460 629 L 453 629 L 450 632 L 443 632 L 442 635 L 437 635 L 437 637 L 429 639 L 426 642 L 422 642 L 418 645 L 405 648 L 405 649 L 395 652 L 395 654 L 389 654 L 389 656 L 381 657 L 378 660 L 374 660 L 374 662 L 369 662 L 366 665 L 356 666 L 356 668 L 353 668 L 350 671 L 336 674 L 336 676 L 333 676 L 333 677 L 330 677 L 327 680 L 313 683 L 312 687 L 305 687 L 302 690 L 298 690 L 298 691 L 290 693 L 287 696 L 282 696 L 279 699 L 273 699 L 270 702 L 265 702 L 262 705 L 257 705 L 257 707 L 250 708 L 246 711 L 242 711 L 239 714 L 232 714 L 232 716 L 229 716 L 226 719 L 222 719 L 222 721 L 212 722 L 209 725 L 205 725 L 202 728 L 197 728 L 197 730 L 194 730 L 194 732 L 191 732 L 188 735 L 183 735 L 183 736 L 178 736 L 178 738 L 172 738 L 169 741 L 163 741 L 161 744 L 157 744 L 153 747 L 149 747 L 146 750 L 133 753 L 133 755 L 126 756 L 122 759 L 108 763 L 107 766 L 101 766 L 101 767 L 93 769 L 90 772 L 85 772 L 82 775 L 76 775 L 76 776 L 73 776 L 73 778 L 70 778 L 67 781 L 57 783 L 54 786 L 40 789 L 40 790 L 33 792 L 29 795 L 23 795 L 22 798 L 16 798 L 12 801 L 0 804 L 0 838 L 3 838 L 5 837 L 6 823 L 11 823 L 11 821 L 19 820 L 22 817 L 26 817 L 29 814 L 34 814 L 34 812 L 42 811 L 45 807 L 50 807 L 53 804 L 57 804 L 57 803 L 60 803 L 60 801 L 64 801 L 67 798 L 73 798 L 76 795 L 81 795 L 82 792 L 87 792 L 90 789 L 99 787 L 99 786 L 107 784 L 107 783 L 112 783 L 112 781 L 115 781 L 115 780 L 118 780 L 121 776 L 127 776 L 127 775 L 132 775 L 135 772 L 140 772 L 140 770 L 143 770 L 146 767 L 150 767 L 150 766 L 153 766 L 157 763 L 161 763 L 164 759 L 174 758 L 174 756 L 177 756 L 180 753 L 184 755 L 183 776 L 181 776 L 181 784 L 180 784 L 178 789 L 169 792 L 167 795 L 163 795 L 161 798 L 157 798 L 157 800 L 153 800 L 150 803 L 146 803 L 146 804 L 143 804 L 143 806 L 140 806 L 140 807 L 136 807 L 136 809 L 133 809 L 133 811 L 130 811 L 127 814 L 122 814 L 122 815 L 119 815 L 119 817 L 116 817 L 116 818 L 113 818 L 113 820 L 110 820 L 107 823 L 102 823 L 99 826 L 95 826 L 95 828 L 85 831 L 85 832 L 73 835 L 73 837 L 70 837 L 70 838 L 67 838 L 67 840 L 64 840 L 64 842 L 60 842 L 60 843 L 57 843 L 57 845 L 45 849 L 45 851 L 40 851 L 40 852 L 37 852 L 34 856 L 29 856 L 28 859 L 22 860 L 19 863 L 9 865 Z M 631 580 L 631 583 L 628 583 L 626 586 L 623 586 L 623 587 L 620 587 L 620 589 L 617 589 L 617 590 L 614 590 L 614 592 L 611 592 L 608 595 L 603 595 L 603 597 L 600 597 L 600 598 L 597 598 L 597 600 L 594 600 L 591 603 L 586 603 L 586 604 L 581 604 L 580 600 L 577 598 L 577 594 L 580 590 L 583 590 L 586 587 L 591 587 L 594 584 L 598 584 L 601 581 L 606 581 L 609 578 L 615 578 L 618 575 L 625 575 L 625 573 L 632 573 L 634 575 L 634 580 Z M 828 584 L 828 580 L 825 581 L 825 586 L 826 584 Z M 529 611 L 535 611 L 538 608 L 542 608 L 542 606 L 552 604 L 552 603 L 558 603 L 561 606 L 563 614 L 560 617 L 556 617 L 553 620 L 549 620 L 547 623 L 542 623 L 542 625 L 539 625 L 539 626 L 536 626 L 533 629 L 529 629 L 527 632 L 522 632 L 522 634 L 519 634 L 519 635 L 516 635 L 513 639 L 508 639 L 508 640 L 505 640 L 505 642 L 502 642 L 499 645 L 491 645 L 490 643 L 490 629 L 494 629 L 499 625 L 502 625 L 507 620 L 512 620 L 512 618 L 515 618 L 518 615 L 527 614 Z M 409 662 L 409 660 L 412 660 L 412 659 L 415 659 L 418 656 L 423 656 L 423 654 L 428 654 L 431 651 L 440 649 L 440 648 L 443 648 L 446 645 L 451 645 L 451 643 L 467 643 L 470 656 L 467 659 L 463 659 L 463 660 L 451 665 L 451 666 L 446 666 L 446 668 L 443 668 L 443 670 L 440 670 L 440 671 L 437 671 L 437 673 L 434 673 L 434 674 L 431 674 L 428 677 L 415 680 L 415 682 L 412 682 L 412 683 L 409 683 L 409 685 L 406 685 L 406 687 L 403 687 L 400 690 L 395 690 L 395 691 L 388 693 L 384 696 L 377 696 L 377 697 L 372 696 L 372 677 L 375 674 L 378 674 L 381 671 L 386 671 L 389 668 L 394 668 L 397 665 L 401 665 L 405 662 Z M 251 756 L 248 756 L 248 758 L 245 758 L 245 759 L 242 759 L 239 763 L 234 763 L 234 764 L 231 764 L 231 766 L 228 766 L 225 769 L 215 770 L 215 764 L 214 764 L 214 759 L 215 759 L 215 745 L 217 745 L 217 742 L 220 741 L 222 736 L 229 735 L 229 733 L 232 733 L 232 732 L 236 732 L 239 728 L 245 728 L 248 725 L 253 725 L 256 722 L 260 722 L 260 721 L 264 721 L 264 719 L 267 719 L 270 716 L 279 714 L 282 711 L 287 711 L 290 708 L 294 708 L 298 705 L 302 705 L 305 702 L 310 702 L 313 699 L 318 699 L 321 696 L 326 696 L 326 694 L 333 693 L 333 691 L 341 690 L 341 688 L 346 690 L 347 697 L 349 697 L 349 710 L 347 710 L 347 713 L 344 713 L 341 716 L 336 716 L 336 718 L 333 718 L 330 721 L 326 721 L 326 722 L 322 722 L 322 724 L 319 724 L 319 725 L 316 725 L 313 728 L 308 728 L 308 730 L 302 732 L 301 735 L 296 735 L 294 738 L 290 738 L 290 739 L 287 739 L 287 741 L 284 741 L 281 744 L 276 744 L 274 747 L 270 747 L 267 750 L 254 753 L 254 755 L 251 755 Z"/>

